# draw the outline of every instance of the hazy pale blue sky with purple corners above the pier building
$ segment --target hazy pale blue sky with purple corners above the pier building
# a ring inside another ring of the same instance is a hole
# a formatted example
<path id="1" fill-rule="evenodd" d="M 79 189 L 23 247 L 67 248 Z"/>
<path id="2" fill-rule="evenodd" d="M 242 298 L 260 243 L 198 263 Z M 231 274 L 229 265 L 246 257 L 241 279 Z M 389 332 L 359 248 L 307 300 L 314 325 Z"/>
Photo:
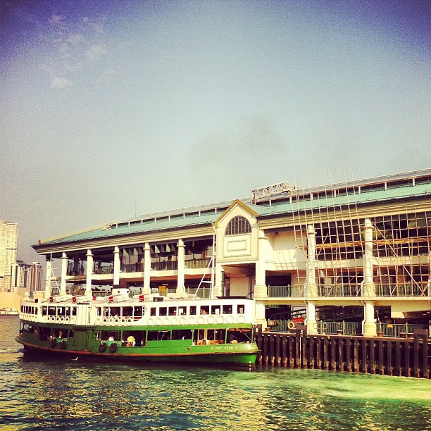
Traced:
<path id="1" fill-rule="evenodd" d="M 426 0 L 2 0 L 0 220 L 30 263 L 135 215 L 431 168 L 430 48 Z"/>

